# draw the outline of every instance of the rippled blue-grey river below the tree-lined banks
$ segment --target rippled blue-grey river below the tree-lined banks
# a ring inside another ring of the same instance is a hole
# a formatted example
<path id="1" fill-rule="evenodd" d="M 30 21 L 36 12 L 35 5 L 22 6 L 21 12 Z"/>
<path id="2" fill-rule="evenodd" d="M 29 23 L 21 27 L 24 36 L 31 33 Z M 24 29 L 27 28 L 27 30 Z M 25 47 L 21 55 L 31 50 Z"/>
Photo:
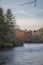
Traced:
<path id="1" fill-rule="evenodd" d="M 3 49 L 0 51 L 0 65 L 43 65 L 43 44 Z"/>

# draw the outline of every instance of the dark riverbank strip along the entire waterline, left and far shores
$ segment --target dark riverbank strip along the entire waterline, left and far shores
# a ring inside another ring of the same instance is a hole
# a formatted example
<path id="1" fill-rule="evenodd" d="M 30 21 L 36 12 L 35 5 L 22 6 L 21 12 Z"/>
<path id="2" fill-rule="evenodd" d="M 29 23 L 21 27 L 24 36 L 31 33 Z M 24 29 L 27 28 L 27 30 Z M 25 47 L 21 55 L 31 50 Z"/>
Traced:
<path id="1" fill-rule="evenodd" d="M 25 44 L 43 44 L 43 43 L 25 43 Z M 19 43 L 19 44 L 1 44 L 0 45 L 0 49 L 3 49 L 3 48 L 14 48 L 14 47 L 20 47 L 20 46 L 23 46 L 24 45 L 24 43 L 23 44 L 21 44 L 21 43 Z"/>

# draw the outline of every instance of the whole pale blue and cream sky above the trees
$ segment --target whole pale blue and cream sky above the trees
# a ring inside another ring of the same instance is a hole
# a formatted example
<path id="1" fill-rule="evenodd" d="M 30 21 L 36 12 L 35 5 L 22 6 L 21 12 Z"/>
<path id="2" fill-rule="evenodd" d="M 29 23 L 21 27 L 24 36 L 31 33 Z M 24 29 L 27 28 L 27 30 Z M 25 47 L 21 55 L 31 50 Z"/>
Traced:
<path id="1" fill-rule="evenodd" d="M 0 7 L 5 11 L 10 8 L 16 18 L 16 23 L 21 29 L 35 30 L 43 27 L 43 0 L 37 0 L 37 5 L 19 4 L 28 3 L 34 0 L 0 0 Z"/>

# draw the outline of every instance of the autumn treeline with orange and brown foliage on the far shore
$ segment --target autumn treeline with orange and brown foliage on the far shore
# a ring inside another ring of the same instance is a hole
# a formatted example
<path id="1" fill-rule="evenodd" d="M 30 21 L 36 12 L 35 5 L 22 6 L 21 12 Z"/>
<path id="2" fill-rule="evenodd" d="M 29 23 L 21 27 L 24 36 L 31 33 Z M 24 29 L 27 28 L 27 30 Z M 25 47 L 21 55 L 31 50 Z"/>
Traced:
<path id="1" fill-rule="evenodd" d="M 38 30 L 19 30 L 18 39 L 22 43 L 43 43 L 43 27 Z"/>

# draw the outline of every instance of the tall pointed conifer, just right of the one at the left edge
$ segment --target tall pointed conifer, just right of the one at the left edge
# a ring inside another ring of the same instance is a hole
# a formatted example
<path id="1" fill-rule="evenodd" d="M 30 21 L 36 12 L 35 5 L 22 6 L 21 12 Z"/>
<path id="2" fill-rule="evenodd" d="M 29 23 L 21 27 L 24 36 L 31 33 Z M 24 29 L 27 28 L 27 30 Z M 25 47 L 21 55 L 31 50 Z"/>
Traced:
<path id="1" fill-rule="evenodd" d="M 6 12 L 6 22 L 7 22 L 7 42 L 15 43 L 15 17 L 13 17 L 10 9 Z"/>

